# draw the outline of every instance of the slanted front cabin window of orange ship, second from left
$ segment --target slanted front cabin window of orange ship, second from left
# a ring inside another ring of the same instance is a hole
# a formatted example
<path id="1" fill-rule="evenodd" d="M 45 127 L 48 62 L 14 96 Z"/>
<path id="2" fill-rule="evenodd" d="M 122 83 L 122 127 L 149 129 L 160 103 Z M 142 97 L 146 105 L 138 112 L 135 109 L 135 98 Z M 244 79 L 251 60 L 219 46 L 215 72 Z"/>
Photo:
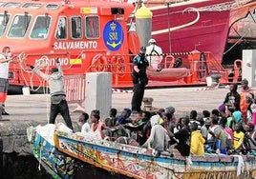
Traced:
<path id="1" fill-rule="evenodd" d="M 24 37 L 28 30 L 32 16 L 27 13 L 16 15 L 12 21 L 8 37 Z"/>

